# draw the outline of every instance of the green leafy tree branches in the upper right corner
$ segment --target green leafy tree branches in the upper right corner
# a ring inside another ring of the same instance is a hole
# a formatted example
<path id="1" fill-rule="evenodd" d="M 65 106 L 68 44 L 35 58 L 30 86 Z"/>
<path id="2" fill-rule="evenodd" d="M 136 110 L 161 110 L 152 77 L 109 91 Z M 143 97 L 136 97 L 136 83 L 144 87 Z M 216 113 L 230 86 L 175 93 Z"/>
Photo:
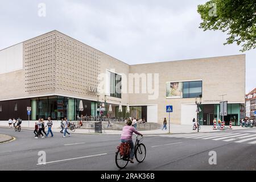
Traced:
<path id="1" fill-rule="evenodd" d="M 228 34 L 225 44 L 241 44 L 244 52 L 256 47 L 256 0 L 210 0 L 197 7 L 199 28 Z"/>

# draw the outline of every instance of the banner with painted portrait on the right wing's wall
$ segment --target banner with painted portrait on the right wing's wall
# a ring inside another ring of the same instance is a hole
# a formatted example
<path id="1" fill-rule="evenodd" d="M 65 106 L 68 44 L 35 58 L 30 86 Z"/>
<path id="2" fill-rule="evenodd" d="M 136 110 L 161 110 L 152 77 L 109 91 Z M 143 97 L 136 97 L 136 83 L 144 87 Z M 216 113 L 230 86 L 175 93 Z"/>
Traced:
<path id="1" fill-rule="evenodd" d="M 166 82 L 166 98 L 182 98 L 183 82 Z"/>

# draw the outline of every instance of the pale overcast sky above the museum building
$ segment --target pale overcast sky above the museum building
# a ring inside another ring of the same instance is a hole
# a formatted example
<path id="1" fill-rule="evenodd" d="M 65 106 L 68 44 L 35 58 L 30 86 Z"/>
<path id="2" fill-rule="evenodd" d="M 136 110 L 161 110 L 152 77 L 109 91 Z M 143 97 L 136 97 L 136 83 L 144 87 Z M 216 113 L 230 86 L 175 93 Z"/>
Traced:
<path id="1" fill-rule="evenodd" d="M 0 1 L 0 49 L 58 30 L 127 64 L 246 54 L 246 92 L 256 87 L 256 49 L 240 52 L 220 31 L 204 32 L 207 0 Z M 39 16 L 39 3 L 46 16 Z M 234 70 L 236 72 L 236 70 Z"/>

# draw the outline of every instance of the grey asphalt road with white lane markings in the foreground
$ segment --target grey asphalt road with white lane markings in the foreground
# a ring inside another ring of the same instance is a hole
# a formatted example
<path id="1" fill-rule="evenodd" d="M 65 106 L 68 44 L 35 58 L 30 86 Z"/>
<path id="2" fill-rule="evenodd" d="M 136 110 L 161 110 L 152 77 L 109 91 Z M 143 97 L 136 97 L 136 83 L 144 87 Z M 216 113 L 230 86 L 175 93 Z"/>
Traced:
<path id="1" fill-rule="evenodd" d="M 114 162 L 119 135 L 72 134 L 62 138 L 60 133 L 53 133 L 54 137 L 35 139 L 31 130 L 19 133 L 14 129 L 0 128 L 0 133 L 16 138 L 13 142 L 0 144 L 1 171 L 119 170 Z M 218 134 L 222 135 L 144 135 L 142 143 L 147 148 L 146 159 L 143 163 L 129 163 L 123 170 L 255 171 L 256 129 L 229 130 Z M 237 142 L 245 139 L 244 142 Z M 46 152 L 46 164 L 38 161 L 39 151 Z M 217 164 L 209 164 L 210 151 L 216 152 Z"/>

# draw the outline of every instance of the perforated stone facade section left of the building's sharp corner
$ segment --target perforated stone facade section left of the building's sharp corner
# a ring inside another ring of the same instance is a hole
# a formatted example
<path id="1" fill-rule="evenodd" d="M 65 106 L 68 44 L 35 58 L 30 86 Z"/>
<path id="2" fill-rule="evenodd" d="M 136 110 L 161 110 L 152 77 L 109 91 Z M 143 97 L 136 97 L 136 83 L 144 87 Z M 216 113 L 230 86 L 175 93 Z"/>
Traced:
<path id="1" fill-rule="evenodd" d="M 54 32 L 24 42 L 23 68 L 26 92 L 55 88 L 55 47 Z"/>

